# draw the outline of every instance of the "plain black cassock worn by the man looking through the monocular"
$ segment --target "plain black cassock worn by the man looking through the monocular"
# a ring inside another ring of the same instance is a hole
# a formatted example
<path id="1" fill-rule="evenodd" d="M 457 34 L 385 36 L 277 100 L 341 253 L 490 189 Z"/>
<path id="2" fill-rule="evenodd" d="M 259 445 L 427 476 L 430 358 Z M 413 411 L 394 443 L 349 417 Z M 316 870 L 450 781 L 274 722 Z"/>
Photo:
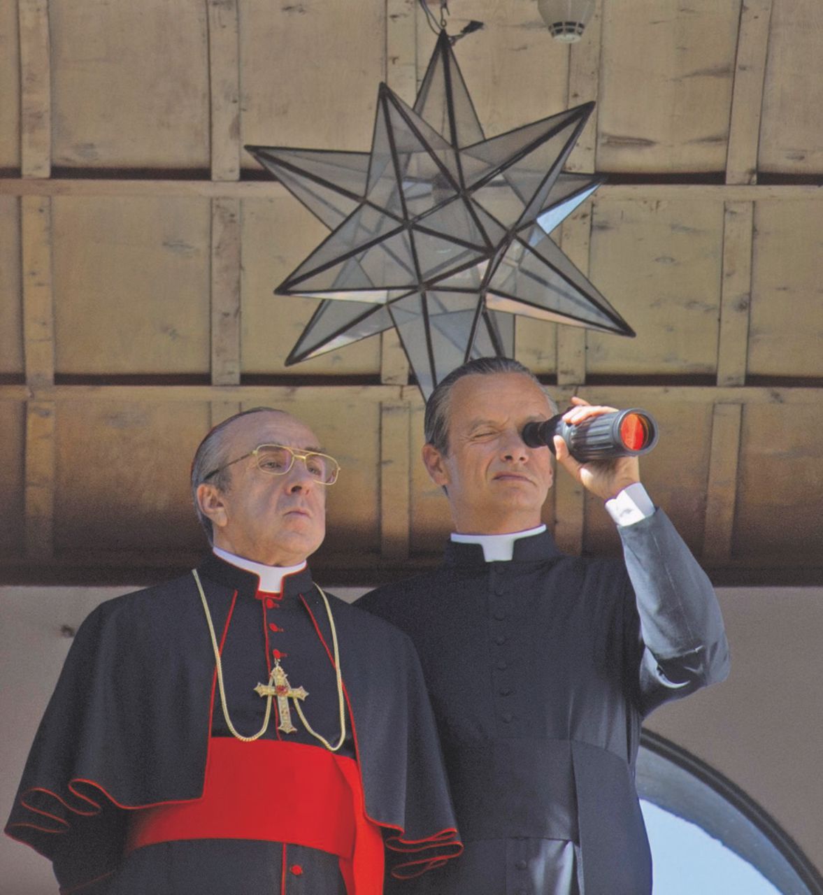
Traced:
<path id="1" fill-rule="evenodd" d="M 507 562 L 450 541 L 436 571 L 359 601 L 418 648 L 465 845 L 403 891 L 651 891 L 641 721 L 725 678 L 728 644 L 666 515 L 619 532 L 623 562 L 564 556 L 548 533 L 515 541 Z"/>

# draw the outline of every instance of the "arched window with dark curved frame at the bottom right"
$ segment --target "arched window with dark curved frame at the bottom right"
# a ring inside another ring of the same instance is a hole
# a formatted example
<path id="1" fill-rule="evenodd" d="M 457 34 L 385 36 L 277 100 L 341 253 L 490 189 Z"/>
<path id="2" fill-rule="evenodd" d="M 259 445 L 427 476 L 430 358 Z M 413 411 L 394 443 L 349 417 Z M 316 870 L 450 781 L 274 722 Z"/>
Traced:
<path id="1" fill-rule="evenodd" d="M 644 730 L 637 788 L 655 895 L 823 895 L 800 848 L 740 788 Z"/>

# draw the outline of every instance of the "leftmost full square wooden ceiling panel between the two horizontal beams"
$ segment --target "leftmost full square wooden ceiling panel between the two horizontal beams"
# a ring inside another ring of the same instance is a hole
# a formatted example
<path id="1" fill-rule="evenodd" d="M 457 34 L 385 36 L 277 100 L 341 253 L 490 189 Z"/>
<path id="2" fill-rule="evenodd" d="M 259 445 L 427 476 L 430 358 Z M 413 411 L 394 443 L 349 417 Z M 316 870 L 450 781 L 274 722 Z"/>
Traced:
<path id="1" fill-rule="evenodd" d="M 208 375 L 208 201 L 60 197 L 52 219 L 56 370 Z"/>

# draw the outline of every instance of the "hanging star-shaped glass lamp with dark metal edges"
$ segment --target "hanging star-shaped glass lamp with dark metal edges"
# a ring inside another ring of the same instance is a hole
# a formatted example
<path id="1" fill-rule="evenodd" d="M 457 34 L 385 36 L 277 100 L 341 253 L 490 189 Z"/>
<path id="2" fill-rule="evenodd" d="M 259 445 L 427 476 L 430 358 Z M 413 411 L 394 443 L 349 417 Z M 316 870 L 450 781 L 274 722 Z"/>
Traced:
<path id="1" fill-rule="evenodd" d="M 321 299 L 286 365 L 394 327 L 428 397 L 513 357 L 516 314 L 633 336 L 548 235 L 602 183 L 562 170 L 593 107 L 485 139 L 441 30 L 413 108 L 380 85 L 370 152 L 247 146 L 331 230 L 275 290 Z"/>

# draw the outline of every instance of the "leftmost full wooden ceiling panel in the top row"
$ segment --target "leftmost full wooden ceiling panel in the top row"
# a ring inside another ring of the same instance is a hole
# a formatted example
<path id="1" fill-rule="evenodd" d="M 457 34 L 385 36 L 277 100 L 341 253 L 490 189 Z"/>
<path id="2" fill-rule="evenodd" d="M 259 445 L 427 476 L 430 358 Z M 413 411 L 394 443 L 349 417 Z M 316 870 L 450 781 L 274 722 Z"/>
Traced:
<path id="1" fill-rule="evenodd" d="M 52 164 L 208 171 L 207 8 L 49 4 Z"/>

